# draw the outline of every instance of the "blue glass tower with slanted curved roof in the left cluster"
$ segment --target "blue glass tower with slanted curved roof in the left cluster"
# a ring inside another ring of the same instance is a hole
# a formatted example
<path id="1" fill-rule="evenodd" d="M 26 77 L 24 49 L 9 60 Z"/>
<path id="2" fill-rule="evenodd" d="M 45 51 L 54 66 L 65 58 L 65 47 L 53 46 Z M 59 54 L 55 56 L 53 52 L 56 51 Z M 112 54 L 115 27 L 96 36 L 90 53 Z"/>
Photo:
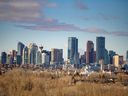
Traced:
<path id="1" fill-rule="evenodd" d="M 22 42 L 18 42 L 17 44 L 18 64 L 22 64 L 23 48 L 24 48 L 24 44 Z"/>

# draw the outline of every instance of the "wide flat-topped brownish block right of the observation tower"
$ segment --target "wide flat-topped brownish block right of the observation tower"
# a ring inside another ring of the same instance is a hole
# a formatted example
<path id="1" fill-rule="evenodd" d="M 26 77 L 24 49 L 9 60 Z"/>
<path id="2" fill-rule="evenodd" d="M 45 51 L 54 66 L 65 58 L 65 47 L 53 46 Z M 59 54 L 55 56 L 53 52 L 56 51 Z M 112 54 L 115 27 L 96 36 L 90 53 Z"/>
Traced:
<path id="1" fill-rule="evenodd" d="M 51 64 L 63 63 L 63 49 L 51 49 Z"/>

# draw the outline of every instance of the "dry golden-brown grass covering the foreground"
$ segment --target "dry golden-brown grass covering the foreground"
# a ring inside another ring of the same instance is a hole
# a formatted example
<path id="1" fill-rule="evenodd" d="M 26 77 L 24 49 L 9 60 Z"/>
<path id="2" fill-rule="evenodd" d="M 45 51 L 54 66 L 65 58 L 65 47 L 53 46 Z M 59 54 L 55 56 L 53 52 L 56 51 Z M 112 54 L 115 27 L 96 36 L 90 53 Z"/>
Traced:
<path id="1" fill-rule="evenodd" d="M 0 76 L 0 96 L 128 96 L 128 87 L 123 85 L 70 82 L 70 76 L 14 69 Z"/>

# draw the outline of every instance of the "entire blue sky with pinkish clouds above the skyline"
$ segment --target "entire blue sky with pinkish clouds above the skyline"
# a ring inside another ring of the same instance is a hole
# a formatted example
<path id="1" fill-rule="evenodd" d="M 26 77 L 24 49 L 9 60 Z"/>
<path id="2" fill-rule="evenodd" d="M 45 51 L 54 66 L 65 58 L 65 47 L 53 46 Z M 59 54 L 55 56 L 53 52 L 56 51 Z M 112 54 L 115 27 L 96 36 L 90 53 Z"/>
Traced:
<path id="1" fill-rule="evenodd" d="M 106 49 L 126 57 L 128 50 L 128 1 L 126 0 L 1 0 L 0 52 L 16 50 L 17 42 L 36 43 L 44 49 L 64 49 L 67 38 L 78 38 L 78 51 L 88 40 L 106 38 Z"/>

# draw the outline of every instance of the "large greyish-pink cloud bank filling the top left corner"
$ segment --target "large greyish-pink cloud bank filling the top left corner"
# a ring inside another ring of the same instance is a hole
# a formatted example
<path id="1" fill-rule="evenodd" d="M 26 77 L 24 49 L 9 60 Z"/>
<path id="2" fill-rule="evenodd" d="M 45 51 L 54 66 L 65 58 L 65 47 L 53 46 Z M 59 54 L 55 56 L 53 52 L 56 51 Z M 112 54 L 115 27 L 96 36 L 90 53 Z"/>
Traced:
<path id="1" fill-rule="evenodd" d="M 56 3 L 50 3 L 48 0 L 0 0 L 0 20 L 31 23 L 45 19 L 45 7 L 56 6 Z"/>

